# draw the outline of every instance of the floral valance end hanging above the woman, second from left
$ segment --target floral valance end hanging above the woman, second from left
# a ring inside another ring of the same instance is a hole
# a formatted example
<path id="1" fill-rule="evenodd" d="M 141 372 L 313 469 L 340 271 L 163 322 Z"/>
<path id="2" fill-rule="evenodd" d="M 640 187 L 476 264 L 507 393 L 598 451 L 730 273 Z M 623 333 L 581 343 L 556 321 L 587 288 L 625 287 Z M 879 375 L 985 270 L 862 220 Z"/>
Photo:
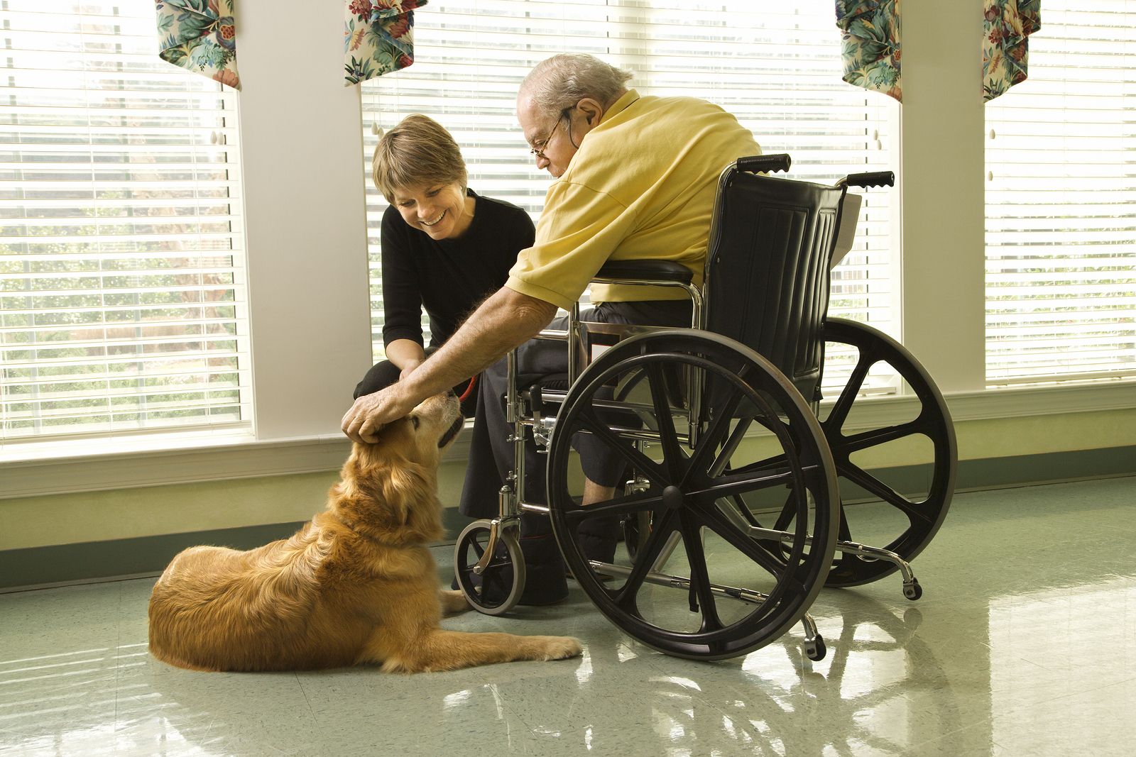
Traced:
<path id="1" fill-rule="evenodd" d="M 344 86 L 415 62 L 415 8 L 426 0 L 346 0 Z"/>

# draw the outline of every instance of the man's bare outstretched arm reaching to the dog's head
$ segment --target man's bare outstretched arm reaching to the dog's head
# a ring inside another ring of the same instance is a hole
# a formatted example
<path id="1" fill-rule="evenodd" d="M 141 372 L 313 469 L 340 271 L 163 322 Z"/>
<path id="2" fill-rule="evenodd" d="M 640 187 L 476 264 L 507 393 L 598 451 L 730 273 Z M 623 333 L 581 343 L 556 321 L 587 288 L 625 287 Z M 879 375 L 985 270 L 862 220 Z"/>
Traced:
<path id="1" fill-rule="evenodd" d="M 341 428 L 352 441 L 375 441 L 384 424 L 435 394 L 475 376 L 513 347 L 540 334 L 557 314 L 550 302 L 501 287 L 412 373 L 382 392 L 356 399 Z"/>

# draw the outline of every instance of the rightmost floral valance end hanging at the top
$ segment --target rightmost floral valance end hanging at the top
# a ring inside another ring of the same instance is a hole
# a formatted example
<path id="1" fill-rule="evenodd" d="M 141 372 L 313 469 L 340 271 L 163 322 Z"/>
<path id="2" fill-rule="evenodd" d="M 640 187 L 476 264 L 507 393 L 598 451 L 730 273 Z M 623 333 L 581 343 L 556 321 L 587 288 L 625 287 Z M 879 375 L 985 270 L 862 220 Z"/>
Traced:
<path id="1" fill-rule="evenodd" d="M 983 99 L 1005 94 L 1026 81 L 1029 35 L 1042 26 L 1042 0 L 986 0 Z"/>

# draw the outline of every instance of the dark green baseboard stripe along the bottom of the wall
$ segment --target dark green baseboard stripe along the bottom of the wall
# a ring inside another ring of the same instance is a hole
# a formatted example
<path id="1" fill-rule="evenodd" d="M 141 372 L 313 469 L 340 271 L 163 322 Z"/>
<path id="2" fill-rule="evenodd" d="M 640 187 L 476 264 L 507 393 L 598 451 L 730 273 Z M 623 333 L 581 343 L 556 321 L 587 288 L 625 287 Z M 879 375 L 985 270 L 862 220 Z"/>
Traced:
<path id="1" fill-rule="evenodd" d="M 929 465 L 904 465 L 874 471 L 900 491 L 926 489 Z M 1039 455 L 964 460 L 959 462 L 955 490 L 994 489 L 1085 478 L 1136 474 L 1136 446 L 1054 452 Z M 842 482 L 843 485 L 843 482 Z M 860 495 L 860 496 L 858 496 Z M 849 502 L 869 499 L 866 493 L 844 490 Z M 446 533 L 456 538 L 470 519 L 444 511 Z M 947 516 L 947 527 L 950 516 Z M 182 549 L 200 544 L 251 549 L 295 532 L 302 522 L 192 531 L 161 536 L 62 544 L 0 550 L 0 591 L 130 575 L 156 575 Z"/>

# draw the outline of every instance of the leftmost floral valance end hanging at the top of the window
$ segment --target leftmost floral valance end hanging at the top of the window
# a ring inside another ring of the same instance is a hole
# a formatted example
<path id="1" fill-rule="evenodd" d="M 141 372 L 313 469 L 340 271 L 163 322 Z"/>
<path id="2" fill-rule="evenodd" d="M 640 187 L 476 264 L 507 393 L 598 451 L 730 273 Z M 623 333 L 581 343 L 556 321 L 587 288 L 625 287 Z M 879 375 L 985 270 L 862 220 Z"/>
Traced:
<path id="1" fill-rule="evenodd" d="M 241 89 L 233 0 L 154 0 L 162 60 Z"/>

